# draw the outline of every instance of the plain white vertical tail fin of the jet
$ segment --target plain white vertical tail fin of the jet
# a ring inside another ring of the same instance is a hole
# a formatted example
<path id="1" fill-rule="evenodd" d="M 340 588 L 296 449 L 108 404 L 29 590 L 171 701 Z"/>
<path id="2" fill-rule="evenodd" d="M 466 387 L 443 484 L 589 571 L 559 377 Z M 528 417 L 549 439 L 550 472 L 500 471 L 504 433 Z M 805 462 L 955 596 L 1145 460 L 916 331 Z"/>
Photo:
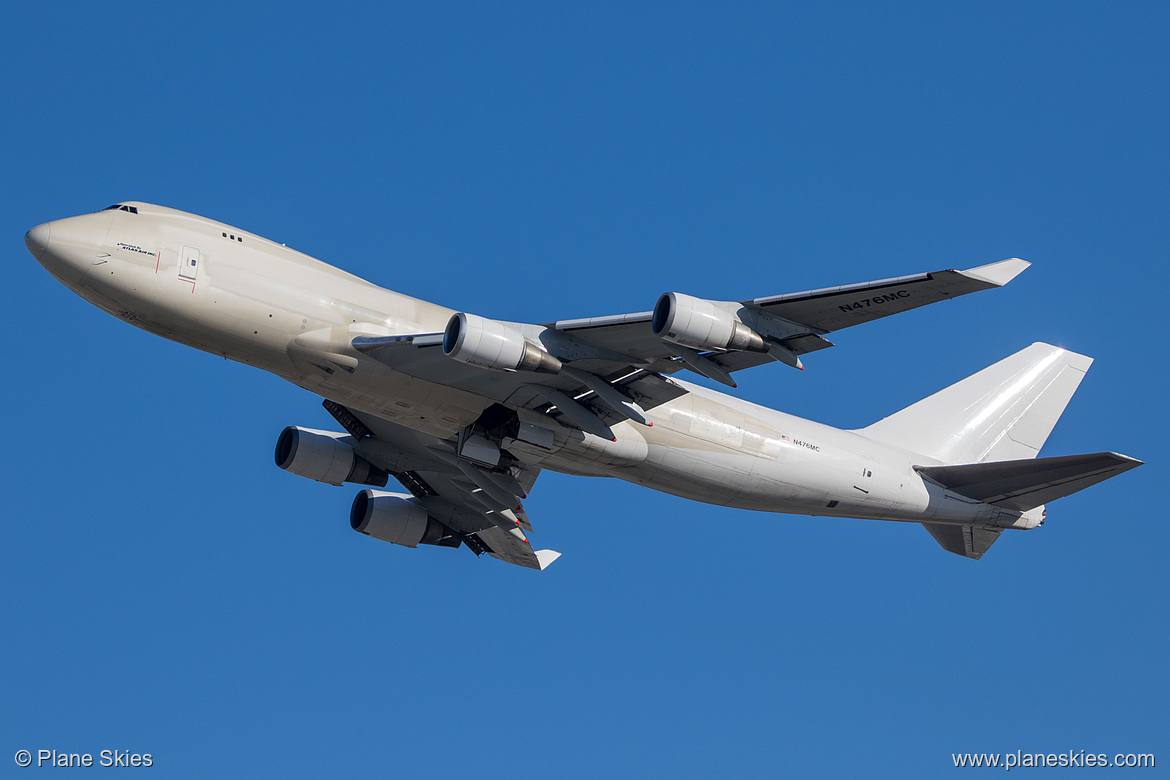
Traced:
<path id="1" fill-rule="evenodd" d="M 943 463 L 1032 458 L 1092 364 L 1033 344 L 860 433 Z"/>

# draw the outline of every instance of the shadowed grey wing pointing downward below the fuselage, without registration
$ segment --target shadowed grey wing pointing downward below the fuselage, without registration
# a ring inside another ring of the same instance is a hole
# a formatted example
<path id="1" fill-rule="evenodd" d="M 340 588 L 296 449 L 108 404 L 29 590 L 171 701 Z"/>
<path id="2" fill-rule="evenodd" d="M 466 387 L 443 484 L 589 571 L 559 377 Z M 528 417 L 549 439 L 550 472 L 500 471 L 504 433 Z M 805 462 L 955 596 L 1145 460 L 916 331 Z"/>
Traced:
<path id="1" fill-rule="evenodd" d="M 476 555 L 543 570 L 560 553 L 532 550 L 532 530 L 521 499 L 539 469 L 516 465 L 493 472 L 456 458 L 454 446 L 380 417 L 325 401 L 325 409 L 357 440 L 356 451 L 393 476 L 427 510 L 455 531 Z"/>

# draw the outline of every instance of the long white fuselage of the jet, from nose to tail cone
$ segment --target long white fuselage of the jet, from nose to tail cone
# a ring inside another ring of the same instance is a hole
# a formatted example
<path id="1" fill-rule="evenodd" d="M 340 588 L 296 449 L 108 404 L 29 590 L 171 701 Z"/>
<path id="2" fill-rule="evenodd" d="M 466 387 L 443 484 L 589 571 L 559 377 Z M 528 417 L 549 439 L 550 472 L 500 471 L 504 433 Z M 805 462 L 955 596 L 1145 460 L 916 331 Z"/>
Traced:
<path id="1" fill-rule="evenodd" d="M 129 206 L 137 213 L 104 210 L 39 226 L 29 249 L 77 295 L 137 327 L 353 409 L 447 439 L 484 408 L 474 393 L 393 371 L 350 346 L 362 334 L 440 332 L 450 309 L 220 222 Z M 924 481 L 913 467 L 936 463 L 928 457 L 672 381 L 689 392 L 649 409 L 653 427 L 621 422 L 614 442 L 565 429 L 536 464 L 770 512 L 1035 525 Z"/>

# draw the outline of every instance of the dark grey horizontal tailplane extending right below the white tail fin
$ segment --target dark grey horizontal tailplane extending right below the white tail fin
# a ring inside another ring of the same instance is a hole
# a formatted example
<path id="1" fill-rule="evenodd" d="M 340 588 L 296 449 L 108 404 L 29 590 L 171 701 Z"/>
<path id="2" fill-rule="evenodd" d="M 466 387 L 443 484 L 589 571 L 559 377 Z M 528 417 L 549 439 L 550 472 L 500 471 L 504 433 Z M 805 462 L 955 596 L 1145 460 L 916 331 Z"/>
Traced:
<path id="1" fill-rule="evenodd" d="M 966 465 L 920 465 L 915 470 L 968 498 L 1026 512 L 1141 464 L 1117 453 L 1096 453 Z"/>

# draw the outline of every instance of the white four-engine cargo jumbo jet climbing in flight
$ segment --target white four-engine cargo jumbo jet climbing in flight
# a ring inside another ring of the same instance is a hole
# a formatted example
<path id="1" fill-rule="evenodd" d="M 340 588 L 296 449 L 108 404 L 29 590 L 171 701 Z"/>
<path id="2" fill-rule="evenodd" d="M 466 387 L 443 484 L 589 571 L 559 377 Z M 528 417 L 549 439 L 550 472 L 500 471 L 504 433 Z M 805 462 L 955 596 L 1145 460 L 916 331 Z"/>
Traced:
<path id="1" fill-rule="evenodd" d="M 543 570 L 523 499 L 542 469 L 617 477 L 751 511 L 920 523 L 979 559 L 1045 505 L 1137 465 L 1038 457 L 1092 359 L 1033 344 L 868 427 L 842 430 L 688 382 L 833 346 L 827 333 L 1003 287 L 1028 263 L 741 302 L 667 292 L 651 311 L 545 324 L 411 298 L 284 244 L 125 201 L 34 227 L 62 284 L 164 338 L 324 399 L 342 430 L 300 426 L 276 464 L 365 485 L 350 525 L 406 547 L 467 546 Z M 402 491 L 380 490 L 393 477 Z"/>

